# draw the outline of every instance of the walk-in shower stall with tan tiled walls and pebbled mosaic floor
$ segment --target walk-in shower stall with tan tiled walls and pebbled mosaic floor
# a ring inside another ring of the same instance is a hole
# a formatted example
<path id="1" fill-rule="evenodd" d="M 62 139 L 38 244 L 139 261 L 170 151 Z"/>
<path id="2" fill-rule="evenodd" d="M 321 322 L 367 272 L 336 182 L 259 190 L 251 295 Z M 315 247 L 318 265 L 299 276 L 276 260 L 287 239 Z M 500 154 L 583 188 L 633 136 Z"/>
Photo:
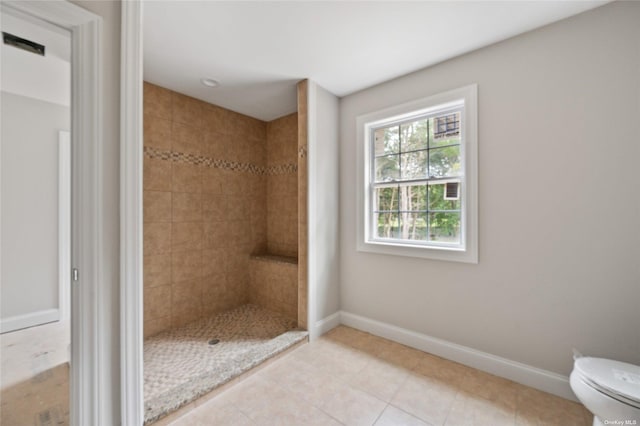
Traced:
<path id="1" fill-rule="evenodd" d="M 306 338 L 306 89 L 264 122 L 144 84 L 145 423 Z"/>

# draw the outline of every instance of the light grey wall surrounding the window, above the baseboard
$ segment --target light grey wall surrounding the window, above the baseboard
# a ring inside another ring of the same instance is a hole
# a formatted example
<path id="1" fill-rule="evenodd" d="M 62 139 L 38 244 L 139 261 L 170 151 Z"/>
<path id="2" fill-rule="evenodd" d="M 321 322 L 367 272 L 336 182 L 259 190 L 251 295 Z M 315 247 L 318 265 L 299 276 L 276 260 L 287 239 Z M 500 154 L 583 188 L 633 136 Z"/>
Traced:
<path id="1" fill-rule="evenodd" d="M 573 347 L 640 364 L 639 22 L 611 3 L 343 98 L 342 310 L 563 375 Z M 470 83 L 479 264 L 356 252 L 356 117 Z"/>

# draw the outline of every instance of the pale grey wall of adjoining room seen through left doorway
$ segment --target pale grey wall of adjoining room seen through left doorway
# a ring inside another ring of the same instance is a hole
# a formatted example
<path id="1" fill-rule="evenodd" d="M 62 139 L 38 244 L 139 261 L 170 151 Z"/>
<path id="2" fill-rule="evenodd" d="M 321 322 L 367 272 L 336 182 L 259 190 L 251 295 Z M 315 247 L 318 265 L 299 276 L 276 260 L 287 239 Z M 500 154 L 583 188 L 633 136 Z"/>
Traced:
<path id="1" fill-rule="evenodd" d="M 69 130 L 70 111 L 4 91 L 1 97 L 0 320 L 10 331 L 10 323 L 25 327 L 57 319 L 47 311 L 57 310 L 59 302 L 58 132 Z"/>

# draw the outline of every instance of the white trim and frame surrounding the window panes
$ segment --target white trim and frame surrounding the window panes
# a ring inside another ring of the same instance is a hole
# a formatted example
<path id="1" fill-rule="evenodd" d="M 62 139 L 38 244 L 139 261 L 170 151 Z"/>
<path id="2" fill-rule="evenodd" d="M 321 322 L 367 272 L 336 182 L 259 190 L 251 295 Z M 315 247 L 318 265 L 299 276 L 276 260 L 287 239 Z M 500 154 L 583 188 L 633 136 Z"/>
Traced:
<path id="1" fill-rule="evenodd" d="M 368 129 L 381 121 L 398 120 L 410 117 L 417 111 L 464 101 L 461 130 L 464 140 L 461 151 L 464 159 L 464 183 L 460 188 L 463 200 L 462 218 L 464 223 L 461 238 L 462 248 L 412 245 L 404 242 L 368 240 L 369 229 L 369 179 L 370 150 Z M 357 249 L 361 252 L 390 254 L 397 256 L 420 257 L 434 260 L 446 260 L 465 263 L 478 263 L 478 86 L 472 84 L 445 93 L 418 99 L 380 111 L 361 115 L 356 120 L 358 145 L 358 182 L 357 182 Z"/>

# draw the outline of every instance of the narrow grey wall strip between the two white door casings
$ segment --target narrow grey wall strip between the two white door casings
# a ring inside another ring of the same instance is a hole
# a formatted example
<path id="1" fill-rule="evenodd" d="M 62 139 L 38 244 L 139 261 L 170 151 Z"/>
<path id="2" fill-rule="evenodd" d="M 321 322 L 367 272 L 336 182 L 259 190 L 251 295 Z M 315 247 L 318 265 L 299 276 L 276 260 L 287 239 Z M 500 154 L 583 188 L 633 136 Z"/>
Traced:
<path id="1" fill-rule="evenodd" d="M 102 21 L 102 152 L 100 155 L 103 182 L 102 264 L 101 282 L 110 283 L 100 289 L 101 329 L 109 330 L 100 336 L 99 385 L 100 418 L 104 425 L 120 424 L 120 2 L 73 1 L 74 4 L 101 16 Z"/>

